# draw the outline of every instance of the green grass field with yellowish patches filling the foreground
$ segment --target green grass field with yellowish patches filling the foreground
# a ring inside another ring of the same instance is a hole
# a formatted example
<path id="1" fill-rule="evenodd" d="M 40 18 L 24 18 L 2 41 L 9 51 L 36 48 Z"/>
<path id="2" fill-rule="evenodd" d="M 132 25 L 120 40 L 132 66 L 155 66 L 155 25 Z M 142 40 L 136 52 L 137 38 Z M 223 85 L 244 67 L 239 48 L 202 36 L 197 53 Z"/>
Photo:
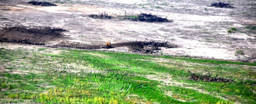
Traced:
<path id="1" fill-rule="evenodd" d="M 256 63 L 117 52 L 0 49 L 0 103 L 255 104 Z M 189 79 L 206 73 L 233 82 Z"/>

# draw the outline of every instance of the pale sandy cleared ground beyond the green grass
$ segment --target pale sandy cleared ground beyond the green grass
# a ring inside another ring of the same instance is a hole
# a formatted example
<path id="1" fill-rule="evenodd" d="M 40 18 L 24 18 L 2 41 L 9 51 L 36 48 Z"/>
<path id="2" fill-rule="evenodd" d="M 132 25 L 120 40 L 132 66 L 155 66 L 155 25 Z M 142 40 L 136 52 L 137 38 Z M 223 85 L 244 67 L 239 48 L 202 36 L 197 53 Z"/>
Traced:
<path id="1" fill-rule="evenodd" d="M 243 50 L 242 59 L 256 60 L 254 0 L 230 1 L 233 9 L 208 7 L 216 0 L 44 0 L 58 5 L 50 7 L 34 6 L 29 1 L 0 0 L 0 38 L 5 27 L 41 26 L 67 30 L 63 32 L 65 38 L 46 42 L 52 44 L 103 45 L 105 41 L 123 43 L 146 41 L 145 38 L 164 41 L 167 37 L 165 41 L 179 47 L 162 48 L 163 54 L 236 60 L 235 51 Z M 87 16 L 104 12 L 116 18 Z M 118 18 L 125 12 L 126 15 L 158 14 L 173 22 L 147 23 Z M 232 27 L 237 32 L 228 34 Z M 128 52 L 129 47 L 109 50 Z"/>

